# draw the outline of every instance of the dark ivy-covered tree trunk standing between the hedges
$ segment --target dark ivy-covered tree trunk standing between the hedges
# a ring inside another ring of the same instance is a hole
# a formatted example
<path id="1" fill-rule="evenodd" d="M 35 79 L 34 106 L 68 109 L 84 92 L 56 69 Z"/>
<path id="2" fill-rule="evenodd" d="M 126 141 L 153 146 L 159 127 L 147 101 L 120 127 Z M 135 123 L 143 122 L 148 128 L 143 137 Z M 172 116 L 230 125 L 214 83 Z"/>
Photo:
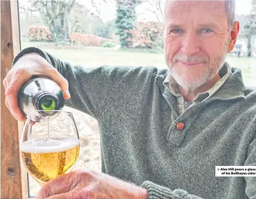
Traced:
<path id="1" fill-rule="evenodd" d="M 132 34 L 130 31 L 136 27 L 135 8 L 140 3 L 140 0 L 117 0 L 117 18 L 115 23 L 122 47 L 129 48 L 132 45 Z"/>

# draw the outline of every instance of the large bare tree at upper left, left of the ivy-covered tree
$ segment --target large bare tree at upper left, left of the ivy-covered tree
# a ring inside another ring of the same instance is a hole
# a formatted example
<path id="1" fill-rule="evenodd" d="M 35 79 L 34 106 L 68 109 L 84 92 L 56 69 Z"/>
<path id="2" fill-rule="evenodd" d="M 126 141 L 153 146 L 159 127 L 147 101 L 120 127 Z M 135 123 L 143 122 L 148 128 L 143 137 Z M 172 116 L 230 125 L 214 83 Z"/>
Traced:
<path id="1" fill-rule="evenodd" d="M 93 33 L 97 25 L 102 25 L 98 17 L 99 4 L 106 0 L 23 0 L 22 12 L 39 14 L 44 25 L 52 33 L 56 43 L 68 41 L 71 32 Z M 24 3 L 25 2 L 25 3 Z M 92 31 L 90 31 L 92 29 Z"/>

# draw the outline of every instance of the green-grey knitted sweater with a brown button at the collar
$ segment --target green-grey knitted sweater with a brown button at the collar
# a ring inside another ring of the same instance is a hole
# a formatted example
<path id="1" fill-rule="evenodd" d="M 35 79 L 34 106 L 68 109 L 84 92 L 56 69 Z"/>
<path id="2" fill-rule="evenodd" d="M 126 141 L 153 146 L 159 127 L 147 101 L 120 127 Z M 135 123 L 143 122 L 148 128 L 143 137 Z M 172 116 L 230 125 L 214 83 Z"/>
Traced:
<path id="1" fill-rule="evenodd" d="M 66 105 L 97 119 L 102 172 L 147 188 L 149 199 L 256 199 L 256 177 L 215 177 L 215 166 L 256 166 L 256 91 L 244 87 L 238 68 L 178 116 L 163 85 L 167 69 L 71 66 L 34 47 L 13 63 L 30 52 L 67 79 Z"/>

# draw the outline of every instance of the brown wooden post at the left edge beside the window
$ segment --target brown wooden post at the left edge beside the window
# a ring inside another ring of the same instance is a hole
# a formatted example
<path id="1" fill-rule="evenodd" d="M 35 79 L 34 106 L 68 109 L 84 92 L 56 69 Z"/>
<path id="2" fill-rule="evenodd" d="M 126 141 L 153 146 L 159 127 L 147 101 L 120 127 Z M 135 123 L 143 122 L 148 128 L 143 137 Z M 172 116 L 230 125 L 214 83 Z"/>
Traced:
<path id="1" fill-rule="evenodd" d="M 4 77 L 20 51 L 17 0 L 1 4 L 1 199 L 28 198 L 27 172 L 20 162 L 19 137 L 23 124 L 5 106 Z"/>

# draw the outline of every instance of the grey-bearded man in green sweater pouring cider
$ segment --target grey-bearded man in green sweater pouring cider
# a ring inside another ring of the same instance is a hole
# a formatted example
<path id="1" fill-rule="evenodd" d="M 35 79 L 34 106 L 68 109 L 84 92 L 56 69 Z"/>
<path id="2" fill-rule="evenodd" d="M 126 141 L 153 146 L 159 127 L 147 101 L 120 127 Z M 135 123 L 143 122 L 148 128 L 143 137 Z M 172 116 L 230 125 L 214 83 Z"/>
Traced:
<path id="1" fill-rule="evenodd" d="M 239 33 L 234 1 L 168 1 L 165 55 L 155 67 L 71 67 L 22 50 L 4 79 L 17 91 L 32 75 L 62 87 L 67 105 L 98 120 L 102 172 L 47 183 L 38 199 L 255 199 L 256 177 L 215 177 L 215 166 L 256 166 L 256 91 L 225 57 Z"/>

